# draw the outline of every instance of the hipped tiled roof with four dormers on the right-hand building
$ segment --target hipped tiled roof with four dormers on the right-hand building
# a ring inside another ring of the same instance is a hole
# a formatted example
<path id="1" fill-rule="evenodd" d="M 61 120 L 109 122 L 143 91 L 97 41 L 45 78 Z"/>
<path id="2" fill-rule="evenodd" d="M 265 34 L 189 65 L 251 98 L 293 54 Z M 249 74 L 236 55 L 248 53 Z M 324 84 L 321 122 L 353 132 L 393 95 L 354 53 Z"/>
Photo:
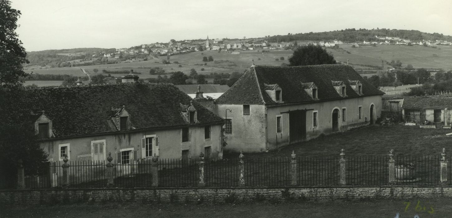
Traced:
<path id="1" fill-rule="evenodd" d="M 363 84 L 363 95 L 356 93 L 348 84 L 359 80 Z M 248 71 L 223 95 L 215 100 L 220 104 L 272 104 L 274 102 L 265 89 L 268 84 L 278 84 L 282 89 L 283 102 L 314 101 L 304 90 L 302 83 L 314 83 L 320 100 L 343 98 L 337 93 L 332 81 L 346 84 L 348 97 L 382 95 L 377 88 L 367 83 L 352 67 L 343 64 L 311 66 L 251 66 Z"/>

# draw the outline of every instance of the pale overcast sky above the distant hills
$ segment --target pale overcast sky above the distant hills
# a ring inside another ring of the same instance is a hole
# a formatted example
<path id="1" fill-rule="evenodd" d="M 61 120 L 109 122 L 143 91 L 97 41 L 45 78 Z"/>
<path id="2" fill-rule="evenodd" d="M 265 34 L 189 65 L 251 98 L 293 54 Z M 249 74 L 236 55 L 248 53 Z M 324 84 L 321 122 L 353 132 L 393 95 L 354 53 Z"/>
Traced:
<path id="1" fill-rule="evenodd" d="M 11 0 L 27 51 L 346 28 L 452 35 L 452 0 Z"/>

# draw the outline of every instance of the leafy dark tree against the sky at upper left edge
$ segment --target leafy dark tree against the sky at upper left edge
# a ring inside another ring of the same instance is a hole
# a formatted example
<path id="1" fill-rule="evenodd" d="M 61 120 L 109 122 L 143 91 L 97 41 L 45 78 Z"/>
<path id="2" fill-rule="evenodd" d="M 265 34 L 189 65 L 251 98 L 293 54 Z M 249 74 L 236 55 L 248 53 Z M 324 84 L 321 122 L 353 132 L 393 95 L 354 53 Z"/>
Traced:
<path id="1" fill-rule="evenodd" d="M 17 20 L 21 13 L 12 9 L 9 0 L 0 0 L 0 86 L 15 86 L 22 77 L 30 74 L 24 72 L 25 63 L 30 63 L 27 59 L 22 42 L 15 32 Z"/>

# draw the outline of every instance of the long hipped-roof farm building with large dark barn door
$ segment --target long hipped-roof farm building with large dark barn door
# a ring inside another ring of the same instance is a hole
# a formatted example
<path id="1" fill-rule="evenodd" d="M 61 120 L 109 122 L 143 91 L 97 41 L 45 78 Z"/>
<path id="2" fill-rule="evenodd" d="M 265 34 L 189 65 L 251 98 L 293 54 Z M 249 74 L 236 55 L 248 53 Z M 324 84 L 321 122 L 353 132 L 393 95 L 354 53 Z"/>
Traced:
<path id="1" fill-rule="evenodd" d="M 374 123 L 383 94 L 348 65 L 253 65 L 215 101 L 225 149 L 261 152 Z"/>

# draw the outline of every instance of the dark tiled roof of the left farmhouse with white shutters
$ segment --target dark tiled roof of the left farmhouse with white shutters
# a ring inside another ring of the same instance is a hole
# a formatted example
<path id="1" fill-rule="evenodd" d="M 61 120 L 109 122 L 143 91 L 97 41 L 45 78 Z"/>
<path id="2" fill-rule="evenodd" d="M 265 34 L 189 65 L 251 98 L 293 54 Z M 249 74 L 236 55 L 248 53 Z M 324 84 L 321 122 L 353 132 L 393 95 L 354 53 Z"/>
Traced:
<path id="1" fill-rule="evenodd" d="M 193 125 L 184 119 L 180 106 L 190 105 L 193 99 L 170 83 L 50 87 L 23 92 L 21 99 L 9 100 L 5 104 L 9 108 L 4 111 L 21 108 L 21 113 L 29 118 L 32 112 L 45 111 L 52 119 L 56 138 L 118 132 L 111 116 L 123 106 L 130 114 L 133 130 Z M 223 122 L 198 102 L 193 101 L 193 106 L 198 110 L 197 125 Z"/>

